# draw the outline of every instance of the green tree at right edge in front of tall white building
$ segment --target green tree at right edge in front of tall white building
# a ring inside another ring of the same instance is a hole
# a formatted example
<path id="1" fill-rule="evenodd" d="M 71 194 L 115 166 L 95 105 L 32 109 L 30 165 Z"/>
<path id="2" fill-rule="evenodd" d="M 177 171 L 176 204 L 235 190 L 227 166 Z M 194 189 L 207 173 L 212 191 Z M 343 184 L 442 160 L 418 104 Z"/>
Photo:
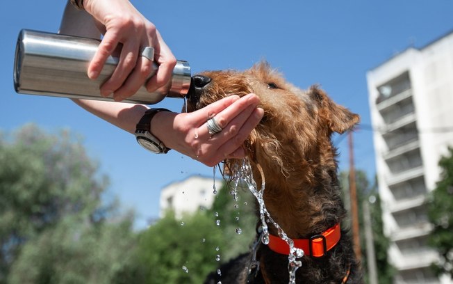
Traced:
<path id="1" fill-rule="evenodd" d="M 428 218 L 434 225 L 428 243 L 440 254 L 440 261 L 432 265 L 436 274 L 453 278 L 453 148 L 448 151 L 449 155 L 440 158 L 442 173 L 428 205 Z"/>

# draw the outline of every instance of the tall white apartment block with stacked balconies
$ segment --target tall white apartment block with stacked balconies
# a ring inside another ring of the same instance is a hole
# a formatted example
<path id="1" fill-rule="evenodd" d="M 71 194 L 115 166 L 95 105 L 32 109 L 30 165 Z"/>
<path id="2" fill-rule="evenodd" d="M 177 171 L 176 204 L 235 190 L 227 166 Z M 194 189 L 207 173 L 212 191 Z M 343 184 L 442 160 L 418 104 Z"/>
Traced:
<path id="1" fill-rule="evenodd" d="M 426 196 L 453 145 L 453 32 L 409 48 L 367 74 L 384 232 L 395 283 L 452 283 L 429 269 Z M 453 233 L 453 232 L 452 232 Z"/>

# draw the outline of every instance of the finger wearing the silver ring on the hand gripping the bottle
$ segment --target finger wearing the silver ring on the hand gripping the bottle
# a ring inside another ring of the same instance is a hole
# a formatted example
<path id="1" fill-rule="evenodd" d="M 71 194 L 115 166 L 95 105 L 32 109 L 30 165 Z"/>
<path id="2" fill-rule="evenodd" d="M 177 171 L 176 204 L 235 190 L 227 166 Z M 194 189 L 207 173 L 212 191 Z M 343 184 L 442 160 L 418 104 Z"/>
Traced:
<path id="1" fill-rule="evenodd" d="M 155 71 L 153 61 L 139 55 L 133 72 L 127 77 L 124 84 L 115 91 L 115 100 L 125 99 L 137 93 L 138 89 L 145 84 L 145 81 Z"/>

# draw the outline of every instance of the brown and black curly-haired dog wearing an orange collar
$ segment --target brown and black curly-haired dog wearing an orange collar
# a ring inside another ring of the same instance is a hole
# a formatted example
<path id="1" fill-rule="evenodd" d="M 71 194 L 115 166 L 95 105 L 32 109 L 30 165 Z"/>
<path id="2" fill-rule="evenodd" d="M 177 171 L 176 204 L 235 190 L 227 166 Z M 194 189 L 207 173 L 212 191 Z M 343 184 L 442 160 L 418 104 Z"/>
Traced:
<path id="1" fill-rule="evenodd" d="M 256 184 L 265 179 L 263 199 L 272 219 L 304 249 L 296 283 L 363 283 L 345 228 L 346 210 L 338 183 L 333 132 L 343 133 L 359 116 L 335 104 L 319 86 L 301 90 L 266 62 L 249 70 L 202 72 L 192 77 L 188 111 L 228 95 L 255 93 L 265 113 L 244 144 Z M 234 171 L 238 159 L 224 161 Z M 236 167 L 237 168 L 237 167 Z M 260 223 L 258 222 L 257 228 Z M 220 267 L 206 283 L 288 283 L 289 246 L 269 224 L 270 243 Z"/>

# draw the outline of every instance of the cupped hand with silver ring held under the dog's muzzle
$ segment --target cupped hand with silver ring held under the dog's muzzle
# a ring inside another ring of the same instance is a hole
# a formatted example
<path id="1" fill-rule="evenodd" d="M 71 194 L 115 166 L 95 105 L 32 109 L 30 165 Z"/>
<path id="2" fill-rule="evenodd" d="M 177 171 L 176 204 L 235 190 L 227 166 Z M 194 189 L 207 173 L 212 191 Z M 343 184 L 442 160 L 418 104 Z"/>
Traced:
<path id="1" fill-rule="evenodd" d="M 197 159 L 206 166 L 215 166 L 224 159 L 245 157 L 242 145 L 263 118 L 254 94 L 232 95 L 192 113 L 159 112 L 151 121 L 151 133 L 167 148 Z M 215 117 L 222 132 L 208 133 L 206 121 Z M 169 131 L 173 129 L 174 131 Z"/>

